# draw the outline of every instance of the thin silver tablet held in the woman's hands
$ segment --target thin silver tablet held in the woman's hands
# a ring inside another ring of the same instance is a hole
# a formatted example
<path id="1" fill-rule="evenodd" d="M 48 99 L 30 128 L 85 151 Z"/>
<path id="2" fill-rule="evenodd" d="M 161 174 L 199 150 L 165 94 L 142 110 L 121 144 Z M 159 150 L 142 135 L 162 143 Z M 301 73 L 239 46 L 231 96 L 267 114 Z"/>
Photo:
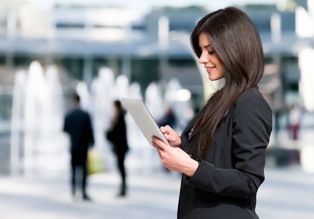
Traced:
<path id="1" fill-rule="evenodd" d="M 130 98 L 121 98 L 121 100 L 150 145 L 152 145 L 151 136 L 156 136 L 170 145 L 142 100 Z"/>

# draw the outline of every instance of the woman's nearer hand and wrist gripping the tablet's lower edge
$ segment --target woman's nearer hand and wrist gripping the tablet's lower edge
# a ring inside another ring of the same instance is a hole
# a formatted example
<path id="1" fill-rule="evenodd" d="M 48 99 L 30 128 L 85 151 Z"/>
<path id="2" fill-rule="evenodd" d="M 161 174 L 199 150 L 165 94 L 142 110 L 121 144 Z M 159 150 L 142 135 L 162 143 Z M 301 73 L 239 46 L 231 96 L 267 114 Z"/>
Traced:
<path id="1" fill-rule="evenodd" d="M 172 147 L 155 136 L 152 136 L 151 140 L 165 167 L 173 171 L 185 173 L 188 176 L 193 176 L 199 166 L 198 161 L 192 159 L 180 147 Z"/>

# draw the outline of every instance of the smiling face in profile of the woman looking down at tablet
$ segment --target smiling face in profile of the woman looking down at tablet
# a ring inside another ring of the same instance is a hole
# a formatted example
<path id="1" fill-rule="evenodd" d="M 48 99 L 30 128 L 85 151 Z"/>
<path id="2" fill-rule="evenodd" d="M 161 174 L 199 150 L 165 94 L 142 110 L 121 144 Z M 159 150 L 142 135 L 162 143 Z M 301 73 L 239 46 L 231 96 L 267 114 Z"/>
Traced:
<path id="1" fill-rule="evenodd" d="M 199 62 L 204 64 L 208 78 L 210 80 L 218 80 L 224 77 L 224 66 L 218 57 L 217 53 L 213 50 L 211 42 L 206 33 L 199 35 L 199 46 L 201 48 L 201 56 Z"/>

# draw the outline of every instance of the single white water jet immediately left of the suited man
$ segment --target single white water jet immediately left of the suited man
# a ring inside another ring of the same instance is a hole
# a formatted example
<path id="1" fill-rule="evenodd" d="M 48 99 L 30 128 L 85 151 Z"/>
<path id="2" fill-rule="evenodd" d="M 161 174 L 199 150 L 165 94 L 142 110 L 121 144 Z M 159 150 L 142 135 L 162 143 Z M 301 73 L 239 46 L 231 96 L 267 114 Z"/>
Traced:
<path id="1" fill-rule="evenodd" d="M 34 142 L 34 171 L 51 174 L 67 169 L 69 163 L 68 146 L 62 132 L 64 117 L 64 97 L 56 66 L 48 66 L 44 74 L 45 89 L 40 101 L 41 126 L 38 139 Z M 58 162 L 56 162 L 58 160 Z"/>

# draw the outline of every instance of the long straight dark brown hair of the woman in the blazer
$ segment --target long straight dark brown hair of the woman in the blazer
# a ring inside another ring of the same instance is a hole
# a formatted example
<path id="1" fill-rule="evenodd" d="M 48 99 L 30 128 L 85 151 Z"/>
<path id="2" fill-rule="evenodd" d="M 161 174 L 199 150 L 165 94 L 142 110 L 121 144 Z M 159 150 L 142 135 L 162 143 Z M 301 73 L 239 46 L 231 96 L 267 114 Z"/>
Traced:
<path id="1" fill-rule="evenodd" d="M 197 119 L 191 139 L 197 156 L 206 158 L 216 128 L 226 117 L 236 99 L 257 85 L 264 71 L 264 55 L 259 33 L 242 10 L 219 9 L 204 16 L 195 26 L 190 42 L 201 56 L 199 35 L 206 33 L 224 65 L 225 85 L 206 102 L 204 113 Z M 204 143 L 205 142 L 205 143 Z"/>

